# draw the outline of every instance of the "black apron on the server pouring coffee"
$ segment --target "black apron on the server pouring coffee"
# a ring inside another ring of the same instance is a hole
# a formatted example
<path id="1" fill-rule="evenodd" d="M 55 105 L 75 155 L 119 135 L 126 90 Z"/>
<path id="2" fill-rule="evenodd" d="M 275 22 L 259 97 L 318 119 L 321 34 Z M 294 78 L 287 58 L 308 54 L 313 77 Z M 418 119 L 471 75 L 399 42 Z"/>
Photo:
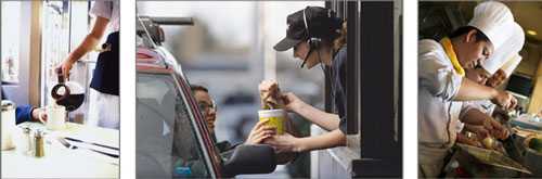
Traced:
<path id="1" fill-rule="evenodd" d="M 98 55 L 96 66 L 92 75 L 90 88 L 102 93 L 118 95 L 119 78 L 119 33 L 115 31 L 107 36 L 104 46 L 109 46 L 111 50 L 101 52 Z"/>

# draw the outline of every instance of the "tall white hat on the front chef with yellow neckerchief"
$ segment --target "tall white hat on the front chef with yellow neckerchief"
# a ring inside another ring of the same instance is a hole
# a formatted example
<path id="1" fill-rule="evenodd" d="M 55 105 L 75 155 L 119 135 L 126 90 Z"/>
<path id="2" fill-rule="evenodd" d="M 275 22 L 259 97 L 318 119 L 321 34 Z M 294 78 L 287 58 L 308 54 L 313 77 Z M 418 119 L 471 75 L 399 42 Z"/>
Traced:
<path id="1" fill-rule="evenodd" d="M 489 38 L 493 49 L 498 49 L 509 35 L 506 26 L 512 22 L 514 22 L 514 16 L 505 4 L 487 1 L 476 5 L 468 26 L 478 28 Z"/>

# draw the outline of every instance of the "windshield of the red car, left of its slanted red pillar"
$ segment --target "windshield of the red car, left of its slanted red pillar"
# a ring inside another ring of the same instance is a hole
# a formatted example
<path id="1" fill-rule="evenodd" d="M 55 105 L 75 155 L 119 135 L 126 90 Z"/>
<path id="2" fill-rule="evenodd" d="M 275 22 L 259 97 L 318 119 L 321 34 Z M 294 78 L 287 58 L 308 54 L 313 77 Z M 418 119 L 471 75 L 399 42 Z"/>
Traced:
<path id="1" fill-rule="evenodd" d="M 210 177 L 186 107 L 171 76 L 138 74 L 138 177 Z"/>

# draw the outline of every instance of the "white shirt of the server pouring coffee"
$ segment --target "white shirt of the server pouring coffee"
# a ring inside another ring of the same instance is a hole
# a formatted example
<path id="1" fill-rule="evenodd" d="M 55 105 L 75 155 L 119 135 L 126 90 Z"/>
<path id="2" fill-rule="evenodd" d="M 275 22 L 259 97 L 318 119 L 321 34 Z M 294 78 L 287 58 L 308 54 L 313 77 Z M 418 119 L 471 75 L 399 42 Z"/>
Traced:
<path id="1" fill-rule="evenodd" d="M 109 23 L 107 24 L 108 33 L 119 30 L 119 3 L 120 2 L 117 0 L 96 0 L 90 10 L 92 15 L 109 20 Z"/>

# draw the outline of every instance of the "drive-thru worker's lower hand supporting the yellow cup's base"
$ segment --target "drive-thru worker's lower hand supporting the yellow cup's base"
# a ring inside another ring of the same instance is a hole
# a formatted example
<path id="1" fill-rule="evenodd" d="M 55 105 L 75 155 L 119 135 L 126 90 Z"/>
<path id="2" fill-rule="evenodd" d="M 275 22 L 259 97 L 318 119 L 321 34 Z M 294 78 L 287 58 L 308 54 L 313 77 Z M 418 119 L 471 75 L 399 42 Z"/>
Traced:
<path id="1" fill-rule="evenodd" d="M 284 152 L 302 152 L 301 142 L 299 138 L 296 138 L 287 132 L 284 135 L 275 135 L 269 139 L 263 140 L 263 143 L 270 144 L 276 151 L 276 153 Z"/>

